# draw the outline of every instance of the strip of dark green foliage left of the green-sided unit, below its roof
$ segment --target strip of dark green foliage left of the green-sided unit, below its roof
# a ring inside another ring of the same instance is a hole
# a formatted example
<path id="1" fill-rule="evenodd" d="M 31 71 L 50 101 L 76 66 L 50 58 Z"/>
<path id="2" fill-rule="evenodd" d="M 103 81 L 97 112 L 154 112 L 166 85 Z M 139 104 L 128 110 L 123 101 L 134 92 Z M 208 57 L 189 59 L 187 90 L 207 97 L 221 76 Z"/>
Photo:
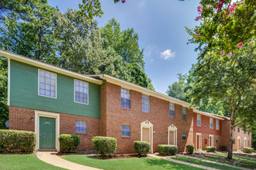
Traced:
<path id="1" fill-rule="evenodd" d="M 9 119 L 7 80 L 7 59 L 0 57 L 0 129 L 5 128 L 5 121 Z"/>

